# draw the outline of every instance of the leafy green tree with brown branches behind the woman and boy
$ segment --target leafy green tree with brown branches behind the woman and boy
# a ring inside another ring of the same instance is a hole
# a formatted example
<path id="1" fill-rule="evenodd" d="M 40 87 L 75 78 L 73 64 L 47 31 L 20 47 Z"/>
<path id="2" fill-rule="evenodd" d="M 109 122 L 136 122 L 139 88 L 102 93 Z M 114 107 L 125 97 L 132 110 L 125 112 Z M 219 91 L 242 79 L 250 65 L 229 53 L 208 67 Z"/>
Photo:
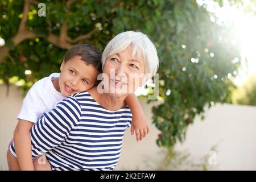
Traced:
<path id="1" fill-rule="evenodd" d="M 46 4 L 45 17 L 38 16 L 39 2 L 0 2 L 0 36 L 6 42 L 0 49 L 0 77 L 5 83 L 18 76 L 28 88 L 59 72 L 73 44 L 103 49 L 119 32 L 139 30 L 150 35 L 160 57 L 159 98 L 164 102 L 152 108 L 155 126 L 162 132 L 159 146 L 182 141 L 205 105 L 230 100 L 233 84 L 227 75 L 240 65 L 240 51 L 231 44 L 236 41 L 232 25 L 211 22 L 209 15 L 214 14 L 206 5 L 192 0 L 41 2 Z M 239 61 L 232 64 L 235 57 Z"/>

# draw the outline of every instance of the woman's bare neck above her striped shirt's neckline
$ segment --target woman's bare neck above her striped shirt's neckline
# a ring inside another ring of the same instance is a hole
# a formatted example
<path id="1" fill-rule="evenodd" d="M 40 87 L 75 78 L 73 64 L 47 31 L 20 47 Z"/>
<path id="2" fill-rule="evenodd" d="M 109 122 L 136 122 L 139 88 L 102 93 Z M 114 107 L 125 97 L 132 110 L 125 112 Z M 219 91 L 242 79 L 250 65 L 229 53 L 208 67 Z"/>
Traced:
<path id="1" fill-rule="evenodd" d="M 126 106 L 125 98 L 126 95 L 120 97 L 113 97 L 108 93 L 98 93 L 97 86 L 88 90 L 93 99 L 98 102 L 105 109 L 115 111 L 118 109 L 122 109 Z"/>

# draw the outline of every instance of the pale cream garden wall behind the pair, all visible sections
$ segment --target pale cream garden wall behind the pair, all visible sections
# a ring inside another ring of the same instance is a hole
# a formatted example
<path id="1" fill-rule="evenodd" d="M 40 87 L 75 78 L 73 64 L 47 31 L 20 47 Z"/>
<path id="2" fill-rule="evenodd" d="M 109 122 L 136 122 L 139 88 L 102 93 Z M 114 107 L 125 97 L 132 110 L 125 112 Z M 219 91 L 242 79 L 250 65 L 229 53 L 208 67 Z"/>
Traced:
<path id="1" fill-rule="evenodd" d="M 7 169 L 6 150 L 16 125 L 16 115 L 22 106 L 22 92 L 10 86 L 0 85 L 0 170 Z M 151 123 L 151 106 L 140 99 L 148 121 Z M 155 140 L 159 131 L 150 125 L 150 134 L 141 142 L 126 131 L 122 155 L 115 169 L 152 169 L 144 162 L 156 158 L 159 147 Z M 241 105 L 216 105 L 205 114 L 205 120 L 196 118 L 188 127 L 187 139 L 177 144 L 177 150 L 188 150 L 192 157 L 200 159 L 208 155 L 210 147 L 217 145 L 217 161 L 220 170 L 256 170 L 256 107 Z"/>

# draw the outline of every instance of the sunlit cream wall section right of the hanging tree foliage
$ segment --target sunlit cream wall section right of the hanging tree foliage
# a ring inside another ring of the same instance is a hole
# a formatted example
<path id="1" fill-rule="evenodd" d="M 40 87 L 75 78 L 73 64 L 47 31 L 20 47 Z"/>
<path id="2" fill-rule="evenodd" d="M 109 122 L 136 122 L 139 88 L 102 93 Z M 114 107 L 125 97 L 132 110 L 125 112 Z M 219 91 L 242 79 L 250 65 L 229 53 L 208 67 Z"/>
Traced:
<path id="1" fill-rule="evenodd" d="M 218 169 L 256 170 L 256 107 L 217 105 L 205 118 L 196 119 L 187 140 L 177 147 L 188 148 L 199 158 L 217 145 Z"/>

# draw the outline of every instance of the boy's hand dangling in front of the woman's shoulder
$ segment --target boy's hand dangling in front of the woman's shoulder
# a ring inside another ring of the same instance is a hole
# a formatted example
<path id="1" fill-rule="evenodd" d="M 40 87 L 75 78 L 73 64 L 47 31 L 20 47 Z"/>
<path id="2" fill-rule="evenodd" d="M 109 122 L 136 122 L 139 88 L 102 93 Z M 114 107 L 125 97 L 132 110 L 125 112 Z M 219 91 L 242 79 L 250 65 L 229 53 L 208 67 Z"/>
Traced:
<path id="1" fill-rule="evenodd" d="M 149 133 L 149 127 L 147 125 L 147 119 L 144 115 L 140 115 L 139 117 L 133 117 L 131 121 L 131 135 L 136 134 L 137 142 L 142 140 Z"/>

